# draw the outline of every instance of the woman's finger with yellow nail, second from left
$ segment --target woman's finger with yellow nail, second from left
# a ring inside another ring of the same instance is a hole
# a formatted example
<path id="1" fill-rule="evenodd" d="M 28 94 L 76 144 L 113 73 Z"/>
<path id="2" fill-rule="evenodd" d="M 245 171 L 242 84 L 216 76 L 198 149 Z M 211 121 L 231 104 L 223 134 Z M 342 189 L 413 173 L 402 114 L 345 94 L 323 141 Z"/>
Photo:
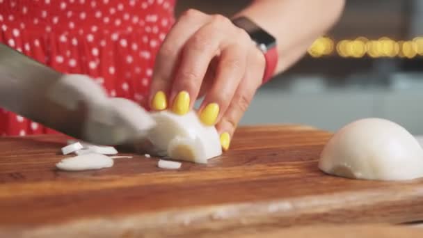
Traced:
<path id="1" fill-rule="evenodd" d="M 210 62 L 230 42 L 231 27 L 229 19 L 214 16 L 187 40 L 170 93 L 174 113 L 184 115 L 192 108 Z"/>

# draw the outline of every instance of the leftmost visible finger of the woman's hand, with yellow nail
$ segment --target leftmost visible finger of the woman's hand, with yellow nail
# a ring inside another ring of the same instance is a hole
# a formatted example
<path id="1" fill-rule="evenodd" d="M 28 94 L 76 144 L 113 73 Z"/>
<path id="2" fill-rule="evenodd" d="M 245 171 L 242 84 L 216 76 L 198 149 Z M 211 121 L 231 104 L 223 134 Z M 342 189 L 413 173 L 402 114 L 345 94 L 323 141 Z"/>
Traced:
<path id="1" fill-rule="evenodd" d="M 149 97 L 151 109 L 163 110 L 168 107 L 167 96 L 172 86 L 173 72 L 177 68 L 179 55 L 186 40 L 208 21 L 209 16 L 205 13 L 198 10 L 187 10 L 166 35 L 154 65 Z"/>

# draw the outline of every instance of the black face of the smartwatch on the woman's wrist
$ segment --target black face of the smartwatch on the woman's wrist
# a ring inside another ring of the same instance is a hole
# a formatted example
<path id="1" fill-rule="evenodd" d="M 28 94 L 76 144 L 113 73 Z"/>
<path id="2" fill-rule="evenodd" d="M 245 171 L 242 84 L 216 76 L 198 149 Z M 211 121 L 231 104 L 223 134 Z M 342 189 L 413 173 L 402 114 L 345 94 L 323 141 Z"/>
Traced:
<path id="1" fill-rule="evenodd" d="M 250 38 L 253 39 L 257 45 L 260 45 L 261 48 L 264 46 L 266 49 L 270 49 L 276 45 L 276 39 L 272 35 L 264 31 L 260 26 L 257 26 L 257 24 L 247 17 L 239 17 L 232 22 L 235 26 L 247 31 Z"/>

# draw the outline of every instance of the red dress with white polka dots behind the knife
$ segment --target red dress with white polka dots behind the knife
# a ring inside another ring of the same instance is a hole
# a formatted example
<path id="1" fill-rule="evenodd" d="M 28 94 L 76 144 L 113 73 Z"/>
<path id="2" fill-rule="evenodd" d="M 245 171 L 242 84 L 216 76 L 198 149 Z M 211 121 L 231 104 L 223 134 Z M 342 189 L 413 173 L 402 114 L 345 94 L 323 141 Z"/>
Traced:
<path id="1" fill-rule="evenodd" d="M 174 6 L 175 0 L 0 0 L 0 42 L 145 105 Z M 1 135 L 49 133 L 56 132 L 0 109 Z"/>

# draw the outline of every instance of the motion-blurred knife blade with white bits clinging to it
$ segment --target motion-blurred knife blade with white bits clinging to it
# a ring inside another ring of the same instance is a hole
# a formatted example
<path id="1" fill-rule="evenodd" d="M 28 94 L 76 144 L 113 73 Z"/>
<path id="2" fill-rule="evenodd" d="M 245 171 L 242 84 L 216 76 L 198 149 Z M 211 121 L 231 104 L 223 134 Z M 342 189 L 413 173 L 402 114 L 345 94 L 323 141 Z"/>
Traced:
<path id="1" fill-rule="evenodd" d="M 102 145 L 128 143 L 155 125 L 141 106 L 107 97 L 89 77 L 61 74 L 1 43 L 0 107 Z"/>

